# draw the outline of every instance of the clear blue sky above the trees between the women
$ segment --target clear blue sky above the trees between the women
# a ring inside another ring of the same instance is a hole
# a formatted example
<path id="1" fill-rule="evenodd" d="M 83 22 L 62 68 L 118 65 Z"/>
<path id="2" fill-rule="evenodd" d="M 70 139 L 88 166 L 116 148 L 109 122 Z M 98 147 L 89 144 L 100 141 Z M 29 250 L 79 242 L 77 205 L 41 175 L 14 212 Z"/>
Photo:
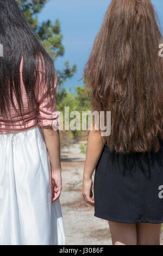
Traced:
<path id="1" fill-rule="evenodd" d="M 39 22 L 47 19 L 60 21 L 65 54 L 58 58 L 55 68 L 62 69 L 66 60 L 71 66 L 77 65 L 77 73 L 65 83 L 65 87 L 69 88 L 71 85 L 73 91 L 76 86 L 83 85 L 83 82 L 78 80 L 83 76 L 83 67 L 89 58 L 93 41 L 110 2 L 110 0 L 50 0 L 39 15 Z M 163 27 L 163 1 L 152 0 L 152 3 L 158 11 Z"/>

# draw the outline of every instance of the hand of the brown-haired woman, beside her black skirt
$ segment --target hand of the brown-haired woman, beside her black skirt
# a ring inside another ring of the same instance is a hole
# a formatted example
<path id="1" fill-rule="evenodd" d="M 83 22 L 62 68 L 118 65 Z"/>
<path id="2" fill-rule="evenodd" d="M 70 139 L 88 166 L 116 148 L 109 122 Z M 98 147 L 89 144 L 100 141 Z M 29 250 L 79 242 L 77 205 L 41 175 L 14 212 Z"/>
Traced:
<path id="1" fill-rule="evenodd" d="M 83 197 L 84 197 L 84 201 L 95 207 L 95 202 L 91 199 L 93 197 L 93 193 L 92 193 L 92 185 L 93 185 L 93 182 L 92 182 L 92 179 L 83 179 L 83 190 L 82 190 L 82 194 L 83 194 Z"/>

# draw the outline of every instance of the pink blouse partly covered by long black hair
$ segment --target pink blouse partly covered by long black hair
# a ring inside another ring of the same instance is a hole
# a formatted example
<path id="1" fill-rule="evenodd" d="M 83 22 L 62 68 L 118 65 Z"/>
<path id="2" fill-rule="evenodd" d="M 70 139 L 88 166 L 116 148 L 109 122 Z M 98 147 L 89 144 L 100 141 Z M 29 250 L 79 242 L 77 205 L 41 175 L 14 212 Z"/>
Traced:
<path id="1" fill-rule="evenodd" d="M 15 133 L 24 130 L 28 130 L 34 126 L 58 126 L 59 125 L 59 112 L 55 111 L 55 99 L 52 94 L 49 97 L 49 107 L 48 107 L 48 97 L 46 96 L 47 87 L 42 87 L 40 83 L 43 73 L 41 70 L 37 73 L 37 81 L 35 86 L 35 97 L 37 103 L 35 104 L 34 109 L 28 108 L 26 89 L 24 88 L 23 78 L 22 78 L 22 69 L 23 69 L 23 59 L 20 64 L 20 78 L 21 78 L 21 89 L 22 89 L 22 99 L 24 106 L 24 123 L 21 120 L 21 116 L 17 114 L 14 107 L 10 106 L 11 109 L 11 119 L 4 119 L 0 115 L 0 134 Z M 54 81 L 54 88 L 56 92 L 57 80 Z M 14 94 L 14 103 L 18 109 L 18 104 Z M 38 109 L 38 113 L 37 113 Z M 23 112 L 23 111 L 22 111 Z"/>

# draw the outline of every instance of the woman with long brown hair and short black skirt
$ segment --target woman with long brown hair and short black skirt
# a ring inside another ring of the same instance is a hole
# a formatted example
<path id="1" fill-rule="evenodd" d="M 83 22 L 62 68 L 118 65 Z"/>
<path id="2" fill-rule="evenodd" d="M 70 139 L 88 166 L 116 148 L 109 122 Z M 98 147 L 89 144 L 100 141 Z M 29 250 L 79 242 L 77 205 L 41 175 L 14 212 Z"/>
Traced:
<path id="1" fill-rule="evenodd" d="M 159 245 L 163 222 L 163 59 L 151 0 L 112 0 L 85 66 L 93 111 L 111 134 L 89 133 L 83 196 L 109 221 L 114 245 Z M 106 121 L 106 120 L 105 120 Z M 92 200 L 92 174 L 95 172 Z"/>

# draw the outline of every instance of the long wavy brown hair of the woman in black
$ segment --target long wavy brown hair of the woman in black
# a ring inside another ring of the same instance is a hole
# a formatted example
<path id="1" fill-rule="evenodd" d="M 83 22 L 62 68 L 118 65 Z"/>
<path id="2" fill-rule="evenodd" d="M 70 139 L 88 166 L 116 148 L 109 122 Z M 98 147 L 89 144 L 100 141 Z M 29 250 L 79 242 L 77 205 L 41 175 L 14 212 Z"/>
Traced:
<path id="1" fill-rule="evenodd" d="M 163 139 L 163 57 L 150 0 L 112 0 L 85 65 L 96 111 L 111 111 L 111 151 L 157 152 Z M 101 132 L 101 131 L 100 131 Z"/>

